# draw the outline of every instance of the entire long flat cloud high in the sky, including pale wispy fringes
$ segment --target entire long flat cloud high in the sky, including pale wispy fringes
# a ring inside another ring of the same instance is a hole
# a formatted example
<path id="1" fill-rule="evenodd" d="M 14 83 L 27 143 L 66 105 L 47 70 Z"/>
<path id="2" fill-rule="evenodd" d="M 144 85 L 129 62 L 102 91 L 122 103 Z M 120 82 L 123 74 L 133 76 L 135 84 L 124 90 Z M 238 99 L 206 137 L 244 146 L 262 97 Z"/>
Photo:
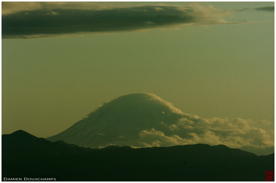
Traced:
<path id="1" fill-rule="evenodd" d="M 244 24 L 227 22 L 230 11 L 188 6 L 114 7 L 92 2 L 2 2 L 2 38 L 83 35 L 160 27 Z"/>

